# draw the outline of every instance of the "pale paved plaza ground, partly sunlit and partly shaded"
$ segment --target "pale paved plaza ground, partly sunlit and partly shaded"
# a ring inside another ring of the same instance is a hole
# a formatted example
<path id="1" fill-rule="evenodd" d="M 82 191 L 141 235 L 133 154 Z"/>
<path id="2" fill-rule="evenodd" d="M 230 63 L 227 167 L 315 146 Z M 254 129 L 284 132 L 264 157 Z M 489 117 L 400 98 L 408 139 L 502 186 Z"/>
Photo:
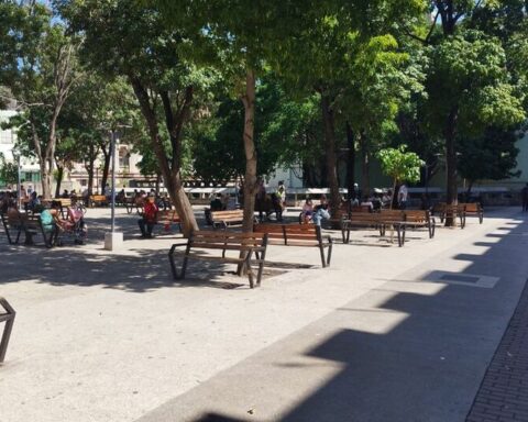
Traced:
<path id="1" fill-rule="evenodd" d="M 109 215 L 88 210 L 82 246 L 10 246 L 0 230 L 0 296 L 18 312 L 0 422 L 528 421 L 518 209 L 402 248 L 333 232 L 326 269 L 317 248 L 270 246 L 253 290 L 229 265 L 191 263 L 175 282 L 180 234 L 141 240 L 122 209 L 124 249 L 105 251 Z"/>

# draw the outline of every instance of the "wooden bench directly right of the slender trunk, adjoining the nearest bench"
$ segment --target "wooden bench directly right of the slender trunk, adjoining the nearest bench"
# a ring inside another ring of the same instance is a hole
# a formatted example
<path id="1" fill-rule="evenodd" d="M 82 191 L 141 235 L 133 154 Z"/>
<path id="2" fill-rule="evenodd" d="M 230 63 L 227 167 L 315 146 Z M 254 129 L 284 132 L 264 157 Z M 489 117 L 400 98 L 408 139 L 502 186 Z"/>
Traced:
<path id="1" fill-rule="evenodd" d="M 314 224 L 255 224 L 253 231 L 268 235 L 268 244 L 284 246 L 312 246 L 318 247 L 321 254 L 321 264 L 323 267 L 330 265 L 332 257 L 332 238 L 323 236 L 321 227 Z M 324 248 L 328 247 L 328 254 L 324 258 Z"/>

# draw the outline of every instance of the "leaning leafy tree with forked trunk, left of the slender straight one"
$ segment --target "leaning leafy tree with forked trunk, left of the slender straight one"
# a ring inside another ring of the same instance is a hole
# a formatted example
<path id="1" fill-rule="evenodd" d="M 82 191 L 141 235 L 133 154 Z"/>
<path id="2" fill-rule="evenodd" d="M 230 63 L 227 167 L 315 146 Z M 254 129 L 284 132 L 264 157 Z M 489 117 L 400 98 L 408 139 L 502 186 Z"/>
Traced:
<path id="1" fill-rule="evenodd" d="M 127 78 L 132 87 L 184 233 L 197 230 L 182 185 L 183 134 L 191 116 L 194 98 L 208 77 L 186 59 L 193 45 L 186 34 L 190 25 L 187 9 L 178 10 L 176 30 L 167 30 L 162 15 L 140 2 L 57 3 L 72 27 L 84 35 L 82 53 L 89 65 L 109 76 Z M 164 127 L 168 143 L 161 135 Z"/>

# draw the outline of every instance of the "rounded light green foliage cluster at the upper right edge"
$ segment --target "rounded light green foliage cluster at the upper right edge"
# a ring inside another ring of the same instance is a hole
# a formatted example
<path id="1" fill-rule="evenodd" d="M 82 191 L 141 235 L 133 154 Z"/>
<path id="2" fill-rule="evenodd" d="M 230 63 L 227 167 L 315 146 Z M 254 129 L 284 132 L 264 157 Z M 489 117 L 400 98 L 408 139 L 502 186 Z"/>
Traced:
<path id="1" fill-rule="evenodd" d="M 458 111 L 458 131 L 479 135 L 488 125 L 509 127 L 525 119 L 505 71 L 499 41 L 466 31 L 431 49 L 426 112 L 429 127 L 442 134 L 448 115 Z"/>

